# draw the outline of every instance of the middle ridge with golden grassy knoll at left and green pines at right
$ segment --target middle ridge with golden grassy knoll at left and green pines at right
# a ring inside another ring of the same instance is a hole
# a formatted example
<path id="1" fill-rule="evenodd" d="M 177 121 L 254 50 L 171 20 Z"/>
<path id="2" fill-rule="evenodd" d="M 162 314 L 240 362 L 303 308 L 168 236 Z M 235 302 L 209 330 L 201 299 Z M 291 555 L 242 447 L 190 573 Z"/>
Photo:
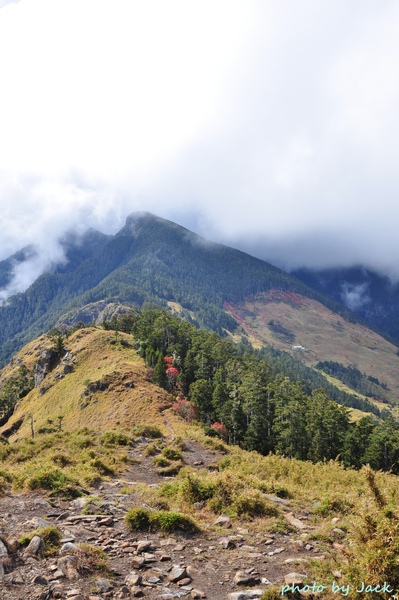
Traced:
<path id="1" fill-rule="evenodd" d="M 2 435 L 106 431 L 143 418 L 164 428 L 162 413 L 173 405 L 248 450 L 398 471 L 399 425 L 391 417 L 353 422 L 348 408 L 322 389 L 306 390 L 273 357 L 164 311 L 120 319 L 116 329 L 105 323 L 28 344 L 0 374 Z M 132 334 L 120 331 L 127 321 Z"/>

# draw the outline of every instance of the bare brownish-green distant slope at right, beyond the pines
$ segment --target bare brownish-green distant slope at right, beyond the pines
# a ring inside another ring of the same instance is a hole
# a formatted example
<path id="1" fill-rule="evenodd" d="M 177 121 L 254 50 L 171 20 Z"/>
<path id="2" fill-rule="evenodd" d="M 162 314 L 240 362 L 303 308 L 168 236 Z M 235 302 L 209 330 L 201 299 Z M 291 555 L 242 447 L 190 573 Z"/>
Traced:
<path id="1" fill-rule="evenodd" d="M 325 360 L 357 365 L 363 373 L 385 382 L 390 389 L 388 395 L 398 403 L 398 348 L 363 325 L 349 323 L 316 300 L 297 297 L 298 304 L 288 304 L 257 294 L 235 303 L 233 312 L 254 345 L 270 344 L 295 353 L 309 366 Z M 293 334 L 293 341 L 273 333 L 268 326 L 271 320 Z M 292 350 L 293 345 L 301 345 L 306 351 Z"/>

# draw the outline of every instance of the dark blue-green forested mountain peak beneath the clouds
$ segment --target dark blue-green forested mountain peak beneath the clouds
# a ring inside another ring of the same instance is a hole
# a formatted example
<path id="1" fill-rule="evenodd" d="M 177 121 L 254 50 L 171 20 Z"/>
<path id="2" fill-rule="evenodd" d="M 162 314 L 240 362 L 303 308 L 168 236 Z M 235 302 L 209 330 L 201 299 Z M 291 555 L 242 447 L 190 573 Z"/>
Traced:
<path id="1" fill-rule="evenodd" d="M 70 234 L 62 244 L 67 263 L 0 306 L 0 362 L 63 313 L 105 299 L 135 306 L 177 302 L 185 316 L 219 333 L 237 325 L 225 301 L 273 288 L 314 297 L 354 318 L 277 267 L 150 213 L 131 214 L 114 236 L 90 230 L 81 237 Z"/>

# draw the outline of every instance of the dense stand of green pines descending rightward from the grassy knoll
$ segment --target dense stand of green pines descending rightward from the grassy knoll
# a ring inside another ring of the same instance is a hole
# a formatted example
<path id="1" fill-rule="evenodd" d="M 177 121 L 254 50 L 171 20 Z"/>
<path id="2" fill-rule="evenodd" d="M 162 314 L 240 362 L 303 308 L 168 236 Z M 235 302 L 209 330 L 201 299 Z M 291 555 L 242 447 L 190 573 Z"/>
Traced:
<path id="1" fill-rule="evenodd" d="M 130 319 L 152 380 L 192 403 L 204 424 L 223 424 L 230 443 L 399 473 L 399 425 L 391 417 L 353 423 L 325 390 L 305 393 L 301 382 L 276 374 L 249 344 L 233 346 L 169 313 L 149 310 Z"/>

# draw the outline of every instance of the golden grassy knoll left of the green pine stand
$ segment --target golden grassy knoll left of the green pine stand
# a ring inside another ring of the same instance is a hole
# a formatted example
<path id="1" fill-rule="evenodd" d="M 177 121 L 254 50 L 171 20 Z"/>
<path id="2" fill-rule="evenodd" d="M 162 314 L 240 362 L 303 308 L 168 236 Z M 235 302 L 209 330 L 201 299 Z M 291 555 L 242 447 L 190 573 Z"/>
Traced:
<path id="1" fill-rule="evenodd" d="M 161 411 L 170 406 L 168 394 L 145 379 L 145 365 L 132 347 L 125 347 L 120 340 L 131 342 L 131 336 L 115 334 L 102 329 L 86 328 L 75 332 L 66 344 L 75 362 L 73 372 L 58 379 L 62 373 L 62 364 L 57 366 L 42 382 L 42 387 L 51 387 L 42 395 L 39 389 L 32 390 L 17 406 L 10 422 L 3 427 L 32 413 L 35 430 L 48 427 L 48 419 L 58 423 L 62 415 L 64 429 L 89 427 L 106 431 L 113 426 L 133 427 L 143 422 L 165 429 Z M 13 361 L 13 366 L 5 367 L 0 377 L 12 375 L 22 362 L 32 368 L 45 348 L 51 347 L 47 336 L 43 335 L 21 350 Z M 104 376 L 110 376 L 111 384 L 105 391 L 82 397 L 88 379 L 95 382 Z M 134 387 L 128 387 L 133 384 Z M 88 406 L 82 408 L 84 403 Z M 14 439 L 28 436 L 29 418 L 25 418 L 22 427 Z"/>

